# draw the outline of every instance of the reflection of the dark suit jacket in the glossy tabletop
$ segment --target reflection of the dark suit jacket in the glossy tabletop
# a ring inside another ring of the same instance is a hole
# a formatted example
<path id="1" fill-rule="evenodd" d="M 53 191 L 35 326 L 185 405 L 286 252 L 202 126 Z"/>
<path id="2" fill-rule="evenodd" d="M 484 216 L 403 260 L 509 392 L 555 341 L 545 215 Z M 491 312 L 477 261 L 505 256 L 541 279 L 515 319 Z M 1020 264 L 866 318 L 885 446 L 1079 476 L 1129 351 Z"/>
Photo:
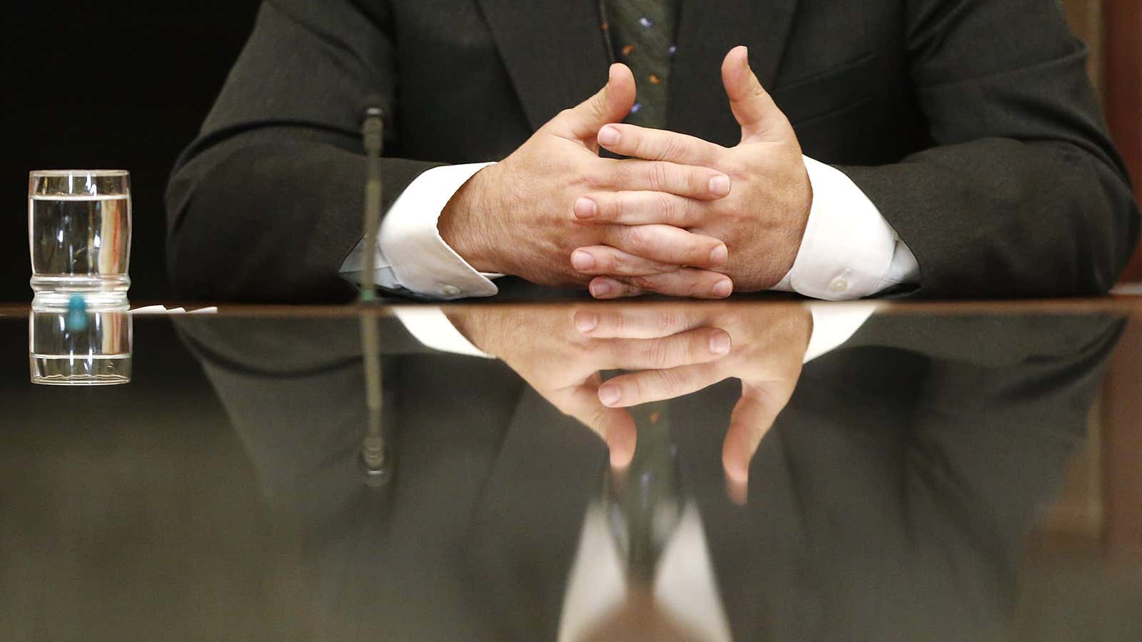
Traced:
<path id="1" fill-rule="evenodd" d="M 270 493 L 300 520 L 332 637 L 555 636 L 605 462 L 586 428 L 502 363 L 426 353 L 389 327 L 396 472 L 370 490 L 354 322 L 180 323 Z M 875 316 L 805 367 L 746 507 L 721 472 L 738 386 L 675 401 L 734 637 L 995 637 L 1021 536 L 1083 436 L 1118 326 Z"/>

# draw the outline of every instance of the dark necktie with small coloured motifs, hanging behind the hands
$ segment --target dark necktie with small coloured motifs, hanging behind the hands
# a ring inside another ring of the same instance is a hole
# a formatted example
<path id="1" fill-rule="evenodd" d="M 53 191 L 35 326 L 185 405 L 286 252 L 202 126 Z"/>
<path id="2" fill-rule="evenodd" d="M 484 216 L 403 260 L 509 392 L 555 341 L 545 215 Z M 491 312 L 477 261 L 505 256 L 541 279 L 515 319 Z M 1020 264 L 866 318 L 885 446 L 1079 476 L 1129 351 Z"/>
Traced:
<path id="1" fill-rule="evenodd" d="M 602 0 L 601 13 L 611 59 L 626 63 L 638 87 L 626 122 L 666 127 L 666 85 L 678 0 Z"/>

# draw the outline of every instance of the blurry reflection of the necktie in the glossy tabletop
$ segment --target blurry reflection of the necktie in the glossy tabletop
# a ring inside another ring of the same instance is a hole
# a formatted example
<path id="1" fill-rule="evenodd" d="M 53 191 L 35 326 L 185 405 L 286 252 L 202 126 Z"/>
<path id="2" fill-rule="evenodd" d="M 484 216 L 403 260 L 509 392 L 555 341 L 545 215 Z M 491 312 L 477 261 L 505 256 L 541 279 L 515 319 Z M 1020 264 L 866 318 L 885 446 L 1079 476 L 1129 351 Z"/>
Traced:
<path id="1" fill-rule="evenodd" d="M 627 581 L 651 586 L 658 560 L 682 516 L 677 454 L 670 441 L 667 403 L 630 409 L 638 443 L 627 470 L 610 478 L 608 523 L 626 557 Z"/>

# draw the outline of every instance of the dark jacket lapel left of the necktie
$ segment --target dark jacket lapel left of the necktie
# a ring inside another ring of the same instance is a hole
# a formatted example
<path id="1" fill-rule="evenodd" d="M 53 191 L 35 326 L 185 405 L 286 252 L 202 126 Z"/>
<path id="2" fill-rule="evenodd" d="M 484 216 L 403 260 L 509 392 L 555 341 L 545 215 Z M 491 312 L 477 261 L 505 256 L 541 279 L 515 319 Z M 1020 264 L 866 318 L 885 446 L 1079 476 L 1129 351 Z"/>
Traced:
<path id="1" fill-rule="evenodd" d="M 478 0 L 532 129 L 606 82 L 596 0 Z"/>

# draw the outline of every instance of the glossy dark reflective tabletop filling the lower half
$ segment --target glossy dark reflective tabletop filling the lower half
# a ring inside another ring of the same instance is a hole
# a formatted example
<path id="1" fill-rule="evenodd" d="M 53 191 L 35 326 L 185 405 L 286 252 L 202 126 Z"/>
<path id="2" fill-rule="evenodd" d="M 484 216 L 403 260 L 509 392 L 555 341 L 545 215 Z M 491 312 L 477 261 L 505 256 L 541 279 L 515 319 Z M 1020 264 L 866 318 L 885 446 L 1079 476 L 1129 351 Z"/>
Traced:
<path id="1" fill-rule="evenodd" d="M 175 305 L 0 305 L 0 639 L 1142 640 L 1142 299 Z"/>

